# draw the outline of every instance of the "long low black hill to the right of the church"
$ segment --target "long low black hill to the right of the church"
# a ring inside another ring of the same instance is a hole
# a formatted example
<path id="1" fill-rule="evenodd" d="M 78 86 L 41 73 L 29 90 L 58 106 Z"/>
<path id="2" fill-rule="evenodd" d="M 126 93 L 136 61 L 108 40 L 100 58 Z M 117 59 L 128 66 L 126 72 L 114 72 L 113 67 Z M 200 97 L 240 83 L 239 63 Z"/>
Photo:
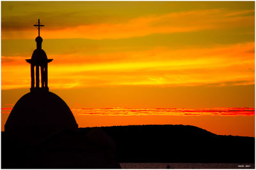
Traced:
<path id="1" fill-rule="evenodd" d="M 221 136 L 191 125 L 101 127 L 116 142 L 119 162 L 253 163 L 255 138 Z M 86 133 L 90 128 L 80 128 Z"/>

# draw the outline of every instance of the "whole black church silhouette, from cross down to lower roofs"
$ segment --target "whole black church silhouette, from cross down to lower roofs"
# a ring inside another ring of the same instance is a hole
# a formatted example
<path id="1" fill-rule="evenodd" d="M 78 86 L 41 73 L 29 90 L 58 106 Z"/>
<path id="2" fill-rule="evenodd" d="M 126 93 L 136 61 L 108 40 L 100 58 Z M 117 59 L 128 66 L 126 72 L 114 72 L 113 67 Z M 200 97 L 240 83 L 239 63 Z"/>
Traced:
<path id="1" fill-rule="evenodd" d="M 31 89 L 13 107 L 2 132 L 2 168 L 120 168 L 115 141 L 100 128 L 79 131 L 67 104 L 49 92 L 47 55 L 38 23 Z M 40 76 L 41 72 L 41 76 Z M 41 80 L 41 85 L 40 85 Z"/>

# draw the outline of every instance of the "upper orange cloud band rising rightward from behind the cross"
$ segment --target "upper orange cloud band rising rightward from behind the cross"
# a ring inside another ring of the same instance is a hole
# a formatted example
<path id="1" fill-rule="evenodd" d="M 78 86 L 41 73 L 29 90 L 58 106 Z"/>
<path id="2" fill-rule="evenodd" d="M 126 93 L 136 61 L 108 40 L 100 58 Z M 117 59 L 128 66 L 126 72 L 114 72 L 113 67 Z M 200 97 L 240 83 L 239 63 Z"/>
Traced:
<path id="1" fill-rule="evenodd" d="M 254 16 L 252 10 L 196 10 L 132 18 L 127 22 L 117 24 L 103 22 L 100 24 L 67 26 L 60 29 L 45 28 L 44 38 L 120 39 L 147 36 L 149 34 L 253 27 L 253 21 Z M 2 38 L 31 38 L 31 33 L 28 34 L 31 31 L 32 28 L 24 31 L 4 29 L 3 24 Z"/>

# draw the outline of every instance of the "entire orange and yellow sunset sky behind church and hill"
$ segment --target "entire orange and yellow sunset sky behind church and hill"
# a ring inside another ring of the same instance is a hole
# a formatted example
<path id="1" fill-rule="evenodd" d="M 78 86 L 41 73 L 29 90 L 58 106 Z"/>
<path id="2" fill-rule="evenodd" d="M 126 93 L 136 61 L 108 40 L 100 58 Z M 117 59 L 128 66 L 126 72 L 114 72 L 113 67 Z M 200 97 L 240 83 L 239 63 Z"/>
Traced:
<path id="1" fill-rule="evenodd" d="M 36 48 L 33 24 L 40 18 L 42 48 L 54 59 L 49 89 L 73 113 L 81 108 L 253 108 L 253 114 L 200 118 L 120 113 L 85 120 L 74 113 L 80 127 L 104 119 L 97 125 L 191 124 L 218 134 L 254 136 L 254 6 L 254 1 L 2 1 L 2 130 L 8 117 L 4 108 L 11 110 L 29 92 L 25 59 Z M 220 122 L 223 127 L 217 128 Z"/>

